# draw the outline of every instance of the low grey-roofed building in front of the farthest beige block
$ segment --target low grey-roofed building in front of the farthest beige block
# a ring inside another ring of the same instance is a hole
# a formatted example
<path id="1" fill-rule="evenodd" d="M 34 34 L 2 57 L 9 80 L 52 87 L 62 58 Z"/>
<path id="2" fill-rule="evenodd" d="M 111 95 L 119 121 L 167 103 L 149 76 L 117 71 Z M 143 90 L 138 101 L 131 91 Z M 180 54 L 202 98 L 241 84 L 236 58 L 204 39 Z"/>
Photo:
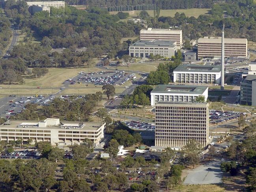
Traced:
<path id="1" fill-rule="evenodd" d="M 129 47 L 129 55 L 140 58 L 148 58 L 151 54 L 171 58 L 176 51 L 175 41 L 140 40 Z"/>

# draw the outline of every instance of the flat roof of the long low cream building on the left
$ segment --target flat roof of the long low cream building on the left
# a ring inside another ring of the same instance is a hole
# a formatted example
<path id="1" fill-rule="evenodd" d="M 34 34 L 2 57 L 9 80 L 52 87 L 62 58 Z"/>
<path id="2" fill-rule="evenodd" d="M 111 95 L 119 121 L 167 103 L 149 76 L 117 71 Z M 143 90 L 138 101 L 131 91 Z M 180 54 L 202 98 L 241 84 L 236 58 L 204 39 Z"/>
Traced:
<path id="1" fill-rule="evenodd" d="M 0 125 L 0 128 L 15 128 L 15 129 L 64 129 L 64 130 L 97 130 L 101 127 L 100 123 L 95 122 L 80 122 L 80 121 L 61 121 L 60 125 L 47 125 L 46 127 L 38 127 L 38 123 L 42 121 L 34 121 L 34 120 L 9 120 L 9 122 L 5 122 Z M 78 125 L 82 125 L 81 128 Z M 19 127 L 18 127 L 19 126 Z M 24 127 L 23 127 L 24 126 Z M 27 127 L 25 127 L 27 126 Z M 71 129 L 67 129 L 65 127 L 70 127 Z"/>

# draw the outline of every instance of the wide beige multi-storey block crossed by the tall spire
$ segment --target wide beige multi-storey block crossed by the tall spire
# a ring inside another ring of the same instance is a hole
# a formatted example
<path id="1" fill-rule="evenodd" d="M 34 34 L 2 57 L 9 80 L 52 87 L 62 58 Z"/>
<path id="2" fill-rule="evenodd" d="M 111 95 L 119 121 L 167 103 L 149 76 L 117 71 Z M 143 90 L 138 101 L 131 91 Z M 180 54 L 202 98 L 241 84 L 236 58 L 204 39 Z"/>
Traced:
<path id="1" fill-rule="evenodd" d="M 224 38 L 225 57 L 246 58 L 247 39 Z M 198 39 L 198 58 L 221 57 L 221 37 Z"/>

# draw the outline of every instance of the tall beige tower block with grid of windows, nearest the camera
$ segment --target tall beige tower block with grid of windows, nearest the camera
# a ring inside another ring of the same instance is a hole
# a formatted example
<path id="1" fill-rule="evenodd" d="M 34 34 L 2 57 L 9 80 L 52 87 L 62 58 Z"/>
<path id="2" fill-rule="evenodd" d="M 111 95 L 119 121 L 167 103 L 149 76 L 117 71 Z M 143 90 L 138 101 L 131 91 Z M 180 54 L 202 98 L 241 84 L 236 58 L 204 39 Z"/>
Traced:
<path id="1" fill-rule="evenodd" d="M 184 147 L 189 140 L 209 142 L 208 103 L 158 102 L 155 106 L 155 146 Z"/>

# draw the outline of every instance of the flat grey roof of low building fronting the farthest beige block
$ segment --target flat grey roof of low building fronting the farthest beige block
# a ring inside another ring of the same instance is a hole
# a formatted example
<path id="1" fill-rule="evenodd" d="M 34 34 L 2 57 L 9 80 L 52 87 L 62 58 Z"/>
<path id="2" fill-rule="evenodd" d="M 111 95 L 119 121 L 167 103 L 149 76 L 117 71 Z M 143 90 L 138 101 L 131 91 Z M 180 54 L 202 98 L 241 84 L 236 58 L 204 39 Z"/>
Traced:
<path id="1" fill-rule="evenodd" d="M 130 47 L 176 47 L 176 41 L 168 40 L 139 40 Z"/>

